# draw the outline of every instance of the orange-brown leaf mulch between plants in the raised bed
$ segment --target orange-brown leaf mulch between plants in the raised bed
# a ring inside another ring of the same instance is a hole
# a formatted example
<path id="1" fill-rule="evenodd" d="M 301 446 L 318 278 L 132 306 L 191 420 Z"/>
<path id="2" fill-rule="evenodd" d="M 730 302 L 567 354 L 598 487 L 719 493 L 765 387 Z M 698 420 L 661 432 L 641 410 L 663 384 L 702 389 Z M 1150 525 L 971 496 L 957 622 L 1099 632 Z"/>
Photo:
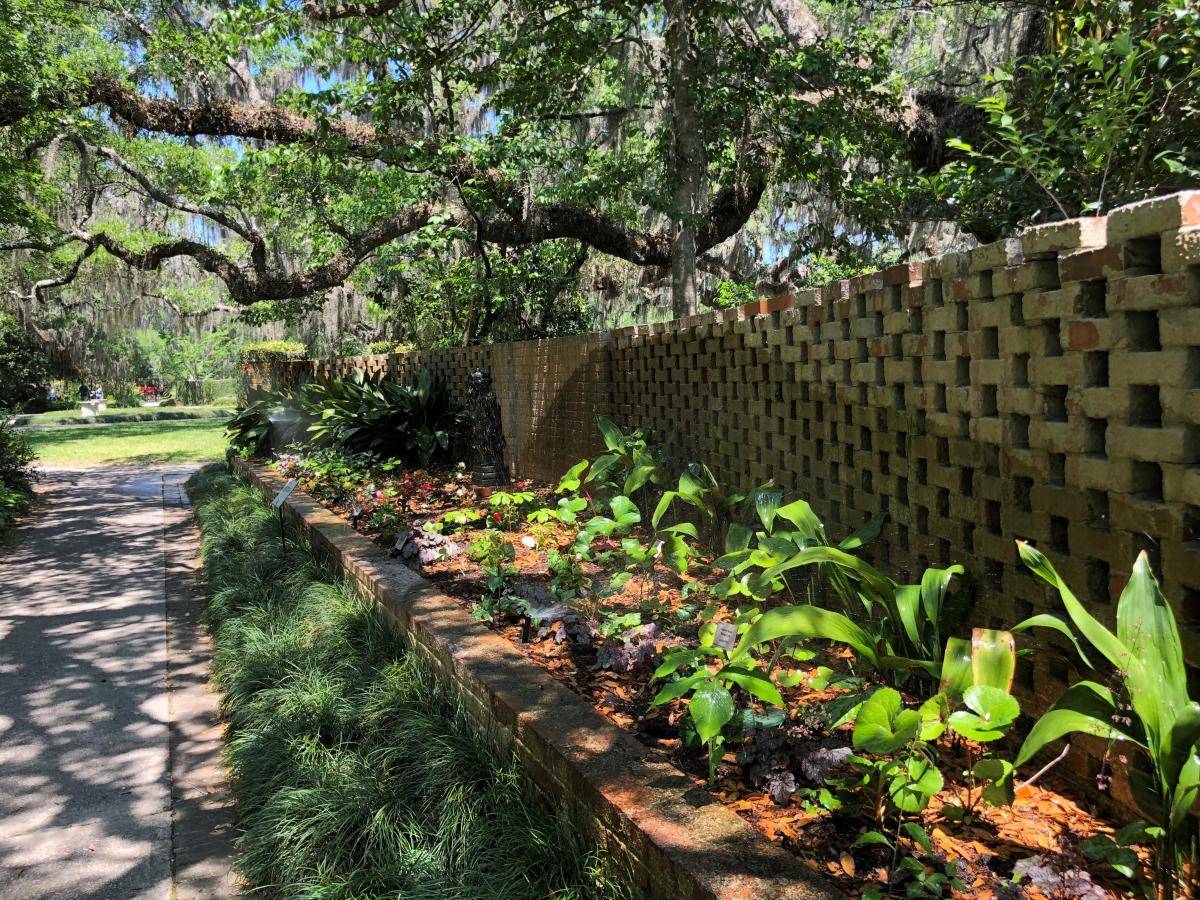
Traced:
<path id="1" fill-rule="evenodd" d="M 407 504 L 404 518 L 408 528 L 420 528 L 424 522 L 438 518 L 450 510 L 472 505 L 474 491 L 469 480 L 439 480 L 425 473 L 422 478 L 431 479 L 433 490 L 420 492 L 420 497 L 412 498 Z M 547 505 L 553 505 L 552 493 L 546 486 L 530 486 L 530 490 Z M 364 515 L 358 520 L 361 530 L 373 508 L 373 500 L 360 494 L 356 502 L 364 509 Z M 330 502 L 323 503 L 329 509 L 347 515 L 347 509 Z M 486 500 L 476 499 L 474 504 L 481 508 Z M 458 530 L 452 534 L 452 540 L 467 547 L 479 533 Z M 533 534 L 534 529 L 528 526 L 506 533 L 516 552 L 514 565 L 523 582 L 548 586 L 545 552 L 550 548 L 548 545 L 557 544 L 559 548 L 569 546 L 574 532 L 564 526 L 540 527 L 538 534 L 546 544 L 528 547 L 522 538 L 532 538 Z M 391 540 L 390 535 L 368 536 L 384 544 Z M 602 541 L 598 541 L 598 550 L 602 548 Z M 584 571 L 598 581 L 605 575 L 601 566 L 592 563 L 584 564 Z M 479 565 L 467 552 L 422 566 L 421 574 L 437 582 L 445 594 L 467 610 L 474 607 L 484 590 Z M 719 580 L 710 574 L 702 577 L 708 584 Z M 680 608 L 697 606 L 695 598 L 684 600 L 684 583 L 674 572 L 658 566 L 649 576 L 635 575 L 618 592 L 605 596 L 602 608 L 607 613 L 644 612 L 653 608 L 656 613 L 654 620 L 671 620 L 671 628 L 664 629 L 658 638 L 659 653 L 674 644 L 694 644 L 698 623 L 676 622 L 672 617 Z M 698 605 L 703 606 L 703 600 Z M 599 607 L 599 604 L 595 606 Z M 588 604 L 583 604 L 583 608 L 587 611 Z M 595 614 L 598 610 L 590 612 Z M 727 618 L 732 617 L 731 611 L 725 612 Z M 649 619 L 649 616 L 643 616 L 643 622 Z M 685 748 L 677 728 L 677 722 L 685 714 L 685 703 L 674 701 L 662 707 L 652 704 L 659 688 L 650 680 L 653 666 L 628 673 L 600 668 L 596 664 L 601 643 L 599 636 L 593 646 L 584 647 L 570 641 L 558 643 L 552 636 L 524 641 L 522 638 L 528 630 L 522 622 L 515 619 L 491 623 L 491 626 L 535 665 L 587 697 L 616 726 L 662 752 L 695 779 L 697 785 L 706 784 L 707 763 L 703 754 L 697 749 Z M 830 656 L 835 659 L 834 665 L 838 656 L 841 656 L 842 662 L 852 662 L 848 652 L 826 654 L 826 661 Z M 838 689 L 814 691 L 797 686 L 784 694 L 790 710 L 796 712 L 805 704 L 828 700 L 839 692 Z M 848 743 L 848 733 L 846 738 Z M 797 853 L 806 865 L 832 878 L 847 893 L 857 895 L 871 888 L 884 887 L 890 851 L 878 846 L 851 850 L 860 833 L 876 827 L 874 822 L 864 816 L 832 815 L 820 809 L 809 811 L 796 798 L 779 805 L 766 792 L 740 778 L 734 754 L 727 754 L 725 762 L 721 776 L 709 790 L 728 809 L 751 822 L 769 840 Z M 961 862 L 960 877 L 966 883 L 967 893 L 977 898 L 1013 896 L 1014 888 L 1006 883 L 1013 866 L 1032 856 L 1042 856 L 1061 869 L 1100 869 L 1082 858 L 1078 845 L 1092 835 L 1111 834 L 1115 830 L 1112 824 L 1055 790 L 1054 776 L 1021 790 L 1012 806 L 988 806 L 979 803 L 970 816 L 964 817 L 956 812 L 966 788 L 952 778 L 952 772 L 959 769 L 953 762 L 956 762 L 953 749 L 948 749 L 942 756 L 947 787 L 932 799 L 920 821 L 937 853 L 946 860 Z M 900 844 L 908 850 L 914 847 L 907 838 L 901 838 Z M 1145 852 L 1141 856 L 1145 862 Z M 1105 895 L 1128 894 L 1128 882 L 1118 876 L 1104 871 L 1092 871 L 1091 875 Z M 1018 893 L 1034 898 L 1058 896 L 1055 892 L 1044 894 L 1028 886 Z"/>

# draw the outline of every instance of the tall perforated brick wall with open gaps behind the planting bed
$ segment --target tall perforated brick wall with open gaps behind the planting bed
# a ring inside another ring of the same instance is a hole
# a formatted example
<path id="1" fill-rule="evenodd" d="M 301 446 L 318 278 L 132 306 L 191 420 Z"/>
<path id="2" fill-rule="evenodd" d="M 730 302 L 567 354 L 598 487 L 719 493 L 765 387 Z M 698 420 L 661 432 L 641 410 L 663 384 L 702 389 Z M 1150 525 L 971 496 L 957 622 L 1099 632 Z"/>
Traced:
<path id="1" fill-rule="evenodd" d="M 512 468 L 554 478 L 604 413 L 732 485 L 774 479 L 836 535 L 887 511 L 889 575 L 961 562 L 972 620 L 1058 610 L 1032 540 L 1103 620 L 1139 551 L 1200 664 L 1200 192 L 1037 227 L 739 310 L 556 341 L 319 364 L 491 368 Z M 1016 690 L 1074 678 L 1043 652 Z"/>

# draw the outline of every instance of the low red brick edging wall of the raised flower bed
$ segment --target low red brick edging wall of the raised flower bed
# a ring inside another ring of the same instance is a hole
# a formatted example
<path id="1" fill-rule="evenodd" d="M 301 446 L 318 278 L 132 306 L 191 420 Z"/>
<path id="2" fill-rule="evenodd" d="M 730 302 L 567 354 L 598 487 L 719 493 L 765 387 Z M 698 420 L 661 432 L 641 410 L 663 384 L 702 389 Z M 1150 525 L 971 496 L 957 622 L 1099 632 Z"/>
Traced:
<path id="1" fill-rule="evenodd" d="M 283 485 L 274 469 L 240 458 L 233 467 L 265 497 Z M 314 499 L 298 490 L 283 514 L 383 606 L 488 740 L 514 751 L 526 775 L 647 895 L 844 896 Z"/>

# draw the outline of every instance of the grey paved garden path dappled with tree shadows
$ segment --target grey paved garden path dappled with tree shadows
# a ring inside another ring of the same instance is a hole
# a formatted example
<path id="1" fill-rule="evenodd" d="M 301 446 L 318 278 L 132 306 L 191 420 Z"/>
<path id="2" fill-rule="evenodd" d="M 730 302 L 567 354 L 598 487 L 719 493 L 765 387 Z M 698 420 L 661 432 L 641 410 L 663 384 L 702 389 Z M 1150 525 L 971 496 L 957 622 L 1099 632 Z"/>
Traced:
<path id="1" fill-rule="evenodd" d="M 191 469 L 58 470 L 0 552 L 0 898 L 221 898 Z"/>

